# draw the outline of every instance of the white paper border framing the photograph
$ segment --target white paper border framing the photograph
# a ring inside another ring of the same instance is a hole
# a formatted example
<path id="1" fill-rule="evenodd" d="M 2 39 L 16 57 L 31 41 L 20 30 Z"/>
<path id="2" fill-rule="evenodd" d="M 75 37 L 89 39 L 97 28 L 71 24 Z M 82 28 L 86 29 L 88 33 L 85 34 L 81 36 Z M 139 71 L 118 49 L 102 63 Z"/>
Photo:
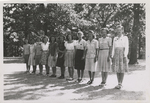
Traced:
<path id="1" fill-rule="evenodd" d="M 146 93 L 146 100 L 105 100 L 105 101 L 86 101 L 89 103 L 150 103 L 150 1 L 149 0 L 3 0 L 0 1 L 0 41 L 2 43 L 0 44 L 0 103 L 50 103 L 50 101 L 30 101 L 30 100 L 4 100 L 4 90 L 3 90 L 3 3 L 146 3 L 146 71 L 147 71 L 147 93 Z M 60 101 L 62 102 L 62 101 Z M 67 102 L 68 101 L 63 101 Z M 81 102 L 84 103 L 85 101 L 69 101 L 69 103 L 74 102 Z M 51 103 L 57 103 L 55 101 L 51 100 Z"/>

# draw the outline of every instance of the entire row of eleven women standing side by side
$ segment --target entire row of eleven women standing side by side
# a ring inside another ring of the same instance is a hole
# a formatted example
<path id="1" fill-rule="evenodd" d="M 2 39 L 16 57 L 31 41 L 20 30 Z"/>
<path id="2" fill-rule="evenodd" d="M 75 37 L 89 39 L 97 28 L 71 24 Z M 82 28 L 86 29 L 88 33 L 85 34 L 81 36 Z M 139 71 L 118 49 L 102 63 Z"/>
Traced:
<path id="1" fill-rule="evenodd" d="M 34 44 L 28 44 L 25 41 L 24 59 L 26 62 L 27 72 L 30 70 L 30 65 L 33 66 L 33 72 L 36 72 L 36 66 L 39 65 L 40 73 L 42 74 L 43 65 L 46 68 L 46 74 L 49 75 L 49 68 L 52 68 L 53 74 L 50 77 L 56 77 L 56 66 L 61 68 L 61 76 L 59 79 L 65 78 L 65 68 L 68 68 L 69 78 L 67 81 L 74 80 L 74 69 L 77 70 L 77 82 L 81 82 L 84 75 L 84 70 L 88 70 L 90 80 L 87 84 L 92 84 L 94 81 L 95 72 L 101 72 L 102 82 L 101 87 L 106 85 L 108 72 L 116 72 L 118 85 L 117 89 L 122 88 L 124 73 L 128 70 L 127 55 L 128 55 L 128 38 L 123 34 L 124 28 L 118 25 L 115 29 L 116 36 L 113 38 L 107 37 L 108 29 L 101 30 L 102 37 L 95 39 L 95 33 L 92 30 L 88 32 L 88 40 L 82 39 L 84 36 L 82 31 L 78 31 L 78 40 L 73 40 L 71 32 L 64 37 L 59 37 L 59 42 L 56 42 L 55 37 L 43 38 L 43 43 L 40 39 Z"/>

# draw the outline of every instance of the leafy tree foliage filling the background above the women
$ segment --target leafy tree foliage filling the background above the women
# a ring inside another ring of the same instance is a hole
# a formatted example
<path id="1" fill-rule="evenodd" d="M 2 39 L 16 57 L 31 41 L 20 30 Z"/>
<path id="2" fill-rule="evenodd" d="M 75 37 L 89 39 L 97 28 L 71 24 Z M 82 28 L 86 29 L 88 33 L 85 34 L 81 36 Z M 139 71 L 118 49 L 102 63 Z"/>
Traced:
<path id="1" fill-rule="evenodd" d="M 135 5 L 139 5 L 138 18 Z M 140 49 L 145 45 L 145 4 L 6 3 L 3 6 L 4 56 L 12 56 L 7 51 L 13 46 L 22 46 L 24 38 L 42 37 L 40 30 L 48 37 L 66 35 L 66 31 L 78 29 L 85 35 L 89 29 L 100 34 L 100 28 L 114 28 L 116 21 L 122 23 L 125 35 L 129 37 L 129 54 L 133 51 L 131 45 L 137 44 L 135 50 L 140 55 Z"/>

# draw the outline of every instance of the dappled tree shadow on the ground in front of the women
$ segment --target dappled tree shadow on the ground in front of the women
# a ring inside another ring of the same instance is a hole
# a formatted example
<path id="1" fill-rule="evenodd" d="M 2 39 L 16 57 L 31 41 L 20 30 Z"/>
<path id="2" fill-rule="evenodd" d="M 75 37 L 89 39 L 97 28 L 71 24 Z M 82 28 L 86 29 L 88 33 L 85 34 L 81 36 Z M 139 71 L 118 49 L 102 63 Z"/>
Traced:
<path id="1" fill-rule="evenodd" d="M 142 91 L 125 91 L 112 89 L 101 89 L 99 86 L 88 86 L 87 84 L 69 83 L 65 79 L 52 79 L 46 76 L 37 76 L 15 72 L 4 75 L 4 100 L 37 100 L 50 95 L 63 96 L 69 90 L 70 100 L 143 100 Z"/>

